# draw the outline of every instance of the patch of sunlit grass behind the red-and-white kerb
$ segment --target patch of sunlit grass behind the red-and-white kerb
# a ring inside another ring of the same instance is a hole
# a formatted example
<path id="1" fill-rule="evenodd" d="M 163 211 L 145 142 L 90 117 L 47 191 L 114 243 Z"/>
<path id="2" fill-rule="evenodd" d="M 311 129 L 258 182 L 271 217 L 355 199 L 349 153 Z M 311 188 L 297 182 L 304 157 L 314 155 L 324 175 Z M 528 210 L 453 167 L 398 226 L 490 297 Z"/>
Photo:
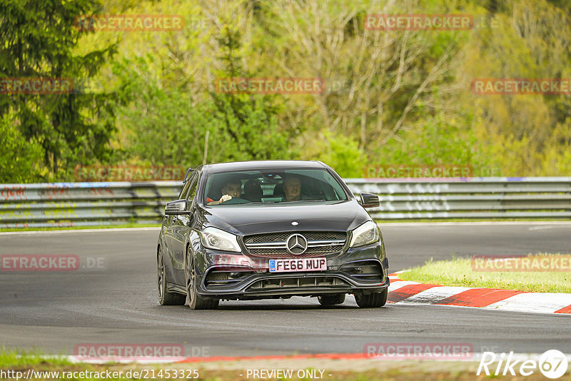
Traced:
<path id="1" fill-rule="evenodd" d="M 527 255 L 530 260 L 540 260 L 545 255 L 559 255 L 569 260 L 569 254 Z M 402 280 L 435 285 L 501 288 L 532 293 L 571 293 L 571 270 L 564 271 L 480 271 L 474 270 L 471 258 L 452 260 L 432 259 L 425 265 L 401 273 Z"/>

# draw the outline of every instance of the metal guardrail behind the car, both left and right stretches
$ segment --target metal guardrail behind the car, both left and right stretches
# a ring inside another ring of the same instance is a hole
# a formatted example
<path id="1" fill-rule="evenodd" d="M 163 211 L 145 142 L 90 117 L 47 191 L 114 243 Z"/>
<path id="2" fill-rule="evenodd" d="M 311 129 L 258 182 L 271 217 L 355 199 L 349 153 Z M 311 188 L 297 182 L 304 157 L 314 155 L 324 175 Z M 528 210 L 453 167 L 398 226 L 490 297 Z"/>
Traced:
<path id="1" fill-rule="evenodd" d="M 571 177 L 345 179 L 377 220 L 571 218 Z M 0 228 L 161 223 L 179 181 L 0 185 Z"/>

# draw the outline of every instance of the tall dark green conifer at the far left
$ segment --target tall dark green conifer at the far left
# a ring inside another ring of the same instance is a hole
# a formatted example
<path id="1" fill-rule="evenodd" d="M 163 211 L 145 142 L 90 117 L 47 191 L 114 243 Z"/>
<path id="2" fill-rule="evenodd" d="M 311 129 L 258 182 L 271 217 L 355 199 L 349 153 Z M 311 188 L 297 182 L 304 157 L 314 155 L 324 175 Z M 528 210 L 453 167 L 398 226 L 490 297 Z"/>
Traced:
<path id="1" fill-rule="evenodd" d="M 0 9 L 0 78 L 65 78 L 75 85 L 62 93 L 6 91 L 0 98 L 0 116 L 13 116 L 9 123 L 26 141 L 39 142 L 51 177 L 66 178 L 76 163 L 108 158 L 115 128 L 112 94 L 81 93 L 78 83 L 95 76 L 116 44 L 74 53 L 81 37 L 91 33 L 77 28 L 76 20 L 97 14 L 100 4 L 0 0 Z"/>

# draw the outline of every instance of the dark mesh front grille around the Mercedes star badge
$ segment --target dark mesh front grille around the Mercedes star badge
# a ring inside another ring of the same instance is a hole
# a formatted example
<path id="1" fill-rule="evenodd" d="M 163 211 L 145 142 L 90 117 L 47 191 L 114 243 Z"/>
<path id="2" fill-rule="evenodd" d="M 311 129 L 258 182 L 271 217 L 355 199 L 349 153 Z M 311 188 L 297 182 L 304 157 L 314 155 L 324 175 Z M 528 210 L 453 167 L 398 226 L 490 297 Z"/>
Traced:
<path id="1" fill-rule="evenodd" d="M 304 253 L 292 254 L 286 247 L 286 240 L 292 234 L 303 235 L 308 248 Z M 345 232 L 285 232 L 246 235 L 244 244 L 251 255 L 271 258 L 304 258 L 338 253 L 347 241 Z"/>

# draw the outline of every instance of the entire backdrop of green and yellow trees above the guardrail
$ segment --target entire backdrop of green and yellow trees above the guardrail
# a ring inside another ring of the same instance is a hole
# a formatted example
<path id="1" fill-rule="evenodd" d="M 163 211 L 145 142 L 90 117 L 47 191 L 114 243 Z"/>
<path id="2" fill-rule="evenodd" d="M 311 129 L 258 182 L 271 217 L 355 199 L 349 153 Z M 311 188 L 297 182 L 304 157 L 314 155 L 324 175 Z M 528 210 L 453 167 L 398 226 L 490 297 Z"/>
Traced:
<path id="1" fill-rule="evenodd" d="M 78 164 L 196 166 L 208 132 L 207 162 L 317 159 L 345 177 L 362 176 L 367 163 L 568 176 L 569 96 L 470 91 L 473 78 L 571 78 L 567 3 L 0 0 L 0 78 L 89 84 L 72 94 L 0 94 L 0 138 L 19 152 L 0 153 L 1 173 L 69 180 Z M 179 14 L 185 25 L 74 28 L 76 16 L 99 12 Z M 477 24 L 371 31 L 370 13 L 471 14 Z M 216 91 L 217 79 L 236 77 L 318 77 L 325 91 Z M 26 171 L 14 172 L 16 162 Z"/>

